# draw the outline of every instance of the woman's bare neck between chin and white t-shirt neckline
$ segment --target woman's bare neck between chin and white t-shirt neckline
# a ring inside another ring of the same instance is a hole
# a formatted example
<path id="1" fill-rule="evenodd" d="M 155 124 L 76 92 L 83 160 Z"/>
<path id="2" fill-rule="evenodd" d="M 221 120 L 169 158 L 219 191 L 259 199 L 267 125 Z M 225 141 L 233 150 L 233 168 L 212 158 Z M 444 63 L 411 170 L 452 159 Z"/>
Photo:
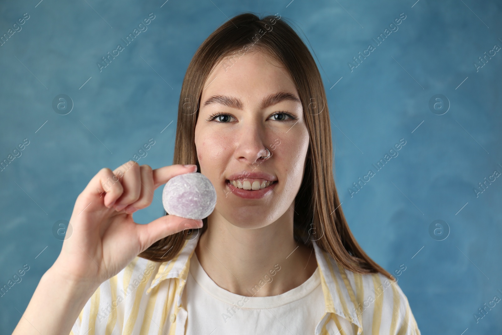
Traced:
<path id="1" fill-rule="evenodd" d="M 219 287 L 243 296 L 282 294 L 317 268 L 314 251 L 293 238 L 292 210 L 258 229 L 236 227 L 213 212 L 195 252 Z"/>

